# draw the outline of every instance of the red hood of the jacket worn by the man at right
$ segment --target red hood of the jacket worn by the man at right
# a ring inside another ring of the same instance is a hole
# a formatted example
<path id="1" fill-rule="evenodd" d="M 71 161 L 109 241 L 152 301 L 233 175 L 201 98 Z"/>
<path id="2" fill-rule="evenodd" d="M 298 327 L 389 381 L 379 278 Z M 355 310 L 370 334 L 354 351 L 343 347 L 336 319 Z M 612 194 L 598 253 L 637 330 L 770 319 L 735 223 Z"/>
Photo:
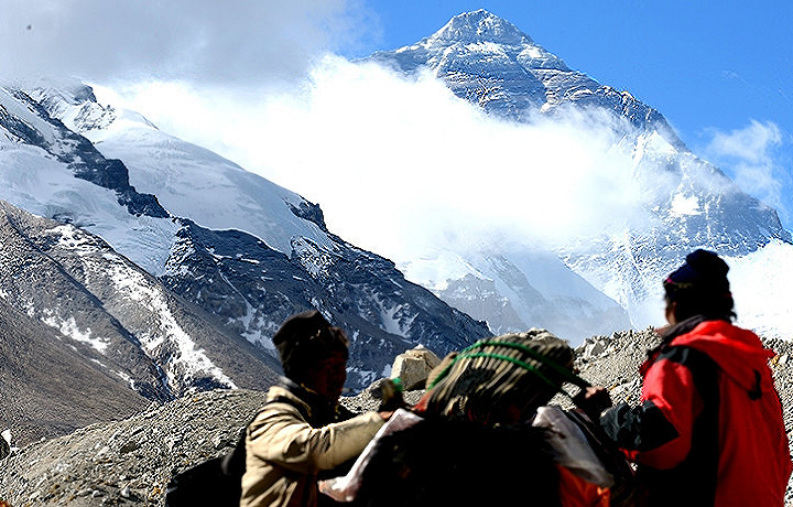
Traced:
<path id="1" fill-rule="evenodd" d="M 763 373 L 768 370 L 768 360 L 776 353 L 765 348 L 751 331 L 726 321 L 706 321 L 675 337 L 672 344 L 707 354 L 727 376 L 750 393 L 760 396 L 773 390 L 773 385 L 767 385 L 770 378 Z"/>

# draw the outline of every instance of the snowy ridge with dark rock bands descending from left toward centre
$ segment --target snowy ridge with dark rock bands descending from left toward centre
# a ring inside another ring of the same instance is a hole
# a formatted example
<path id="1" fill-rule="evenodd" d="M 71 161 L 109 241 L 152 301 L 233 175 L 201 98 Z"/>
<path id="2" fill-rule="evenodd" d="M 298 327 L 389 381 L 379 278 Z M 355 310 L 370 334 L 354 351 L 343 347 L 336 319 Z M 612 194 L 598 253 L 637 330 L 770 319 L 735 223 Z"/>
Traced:
<path id="1" fill-rule="evenodd" d="M 207 375 L 217 385 L 237 386 L 241 374 L 231 375 L 228 364 L 214 367 L 217 356 L 202 356 L 160 291 L 200 309 L 222 328 L 221 337 L 245 338 L 261 365 L 274 368 L 270 337 L 280 323 L 319 309 L 355 343 L 354 389 L 419 343 L 450 350 L 489 334 L 484 324 L 405 281 L 392 262 L 327 231 L 317 205 L 161 132 L 139 115 L 98 105 L 87 87 L 4 89 L 0 99 L 0 198 L 101 236 L 165 285 L 152 290 L 146 278 L 122 277 L 110 257 L 104 258 L 112 292 L 134 303 L 115 317 L 155 314 L 151 330 L 133 334 L 173 384 L 164 398 L 208 386 Z M 41 302 L 29 298 L 15 304 Z M 65 315 L 68 309 L 58 311 Z M 41 310 L 37 315 L 65 330 Z M 79 319 L 74 328 L 73 337 L 86 333 Z M 163 349 L 169 352 L 156 354 Z M 207 374 L 195 380 L 187 373 L 172 375 L 183 370 L 180 360 Z"/>

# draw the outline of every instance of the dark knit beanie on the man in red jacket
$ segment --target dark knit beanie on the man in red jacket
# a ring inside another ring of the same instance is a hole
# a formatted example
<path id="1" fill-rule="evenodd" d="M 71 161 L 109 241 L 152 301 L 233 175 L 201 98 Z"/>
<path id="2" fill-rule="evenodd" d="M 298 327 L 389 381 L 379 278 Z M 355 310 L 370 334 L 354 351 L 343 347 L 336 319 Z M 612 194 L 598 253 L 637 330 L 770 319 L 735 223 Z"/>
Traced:
<path id="1" fill-rule="evenodd" d="M 666 280 L 664 290 L 671 301 L 691 294 L 700 296 L 729 296 L 729 267 L 715 252 L 698 249 L 686 256 L 686 261 Z"/>

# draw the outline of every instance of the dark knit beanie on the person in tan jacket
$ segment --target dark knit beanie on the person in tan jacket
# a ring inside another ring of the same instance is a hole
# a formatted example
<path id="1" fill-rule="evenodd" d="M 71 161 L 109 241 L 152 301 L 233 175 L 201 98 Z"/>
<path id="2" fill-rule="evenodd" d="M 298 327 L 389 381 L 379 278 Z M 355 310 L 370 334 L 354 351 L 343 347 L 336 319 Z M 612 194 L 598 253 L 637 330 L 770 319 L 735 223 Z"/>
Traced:
<path id="1" fill-rule="evenodd" d="M 295 381 L 302 381 L 306 370 L 335 352 L 347 356 L 349 346 L 345 333 L 316 310 L 286 319 L 272 339 L 284 375 Z"/>

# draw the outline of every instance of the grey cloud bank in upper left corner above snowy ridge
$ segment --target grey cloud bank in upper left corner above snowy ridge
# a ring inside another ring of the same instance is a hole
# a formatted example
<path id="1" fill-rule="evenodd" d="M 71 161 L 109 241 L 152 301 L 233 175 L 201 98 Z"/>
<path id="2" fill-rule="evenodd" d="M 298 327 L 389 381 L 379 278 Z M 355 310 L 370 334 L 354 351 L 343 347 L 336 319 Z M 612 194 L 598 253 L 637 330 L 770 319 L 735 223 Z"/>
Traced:
<path id="1" fill-rule="evenodd" d="M 0 0 L 2 78 L 290 79 L 317 54 L 370 35 L 373 14 L 356 3 Z"/>

